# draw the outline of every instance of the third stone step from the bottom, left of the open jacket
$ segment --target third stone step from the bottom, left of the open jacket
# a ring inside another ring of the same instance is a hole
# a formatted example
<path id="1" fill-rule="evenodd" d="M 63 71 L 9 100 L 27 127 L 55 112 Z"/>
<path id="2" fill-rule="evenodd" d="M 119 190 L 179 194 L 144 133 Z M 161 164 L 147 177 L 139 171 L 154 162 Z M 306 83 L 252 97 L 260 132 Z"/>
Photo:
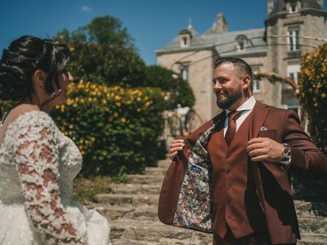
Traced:
<path id="1" fill-rule="evenodd" d="M 158 194 L 97 194 L 95 200 L 97 203 L 106 203 L 111 205 L 158 205 Z"/>

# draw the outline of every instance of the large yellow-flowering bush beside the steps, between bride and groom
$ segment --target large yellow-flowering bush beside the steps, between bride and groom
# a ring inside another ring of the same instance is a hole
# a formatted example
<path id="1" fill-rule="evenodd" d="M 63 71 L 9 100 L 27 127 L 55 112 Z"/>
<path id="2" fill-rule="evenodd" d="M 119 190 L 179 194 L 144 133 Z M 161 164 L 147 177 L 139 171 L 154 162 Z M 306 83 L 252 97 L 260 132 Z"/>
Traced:
<path id="1" fill-rule="evenodd" d="M 156 161 L 164 128 L 165 93 L 158 88 L 69 84 L 65 104 L 51 116 L 83 155 L 84 175 L 141 173 Z"/>

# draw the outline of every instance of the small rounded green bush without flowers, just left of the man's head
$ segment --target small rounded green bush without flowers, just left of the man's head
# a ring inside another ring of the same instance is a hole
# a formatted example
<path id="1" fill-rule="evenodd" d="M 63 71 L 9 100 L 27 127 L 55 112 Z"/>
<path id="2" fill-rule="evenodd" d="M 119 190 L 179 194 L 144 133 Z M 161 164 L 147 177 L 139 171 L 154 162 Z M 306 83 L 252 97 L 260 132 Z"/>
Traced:
<path id="1" fill-rule="evenodd" d="M 167 68 L 150 65 L 146 67 L 146 79 L 144 86 L 159 87 L 170 93 L 170 109 L 176 108 L 178 104 L 182 107 L 192 107 L 195 96 L 190 84 L 183 80 L 181 76 L 174 79 L 173 72 Z"/>

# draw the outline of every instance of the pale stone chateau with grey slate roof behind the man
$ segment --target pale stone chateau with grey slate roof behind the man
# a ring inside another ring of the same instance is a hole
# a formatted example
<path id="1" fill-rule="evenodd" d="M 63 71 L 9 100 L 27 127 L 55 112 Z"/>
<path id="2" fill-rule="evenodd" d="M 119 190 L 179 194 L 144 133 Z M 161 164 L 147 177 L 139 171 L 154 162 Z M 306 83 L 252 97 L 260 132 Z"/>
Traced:
<path id="1" fill-rule="evenodd" d="M 190 23 L 164 48 L 155 51 L 158 65 L 180 72 L 189 81 L 196 96 L 194 109 L 203 121 L 219 112 L 212 84 L 213 63 L 218 57 L 238 57 L 253 71 L 276 72 L 297 83 L 301 56 L 326 42 L 323 0 L 268 0 L 267 6 L 263 28 L 228 32 L 227 21 L 219 13 L 217 22 L 205 33 L 198 34 Z M 253 85 L 256 100 L 300 114 L 289 85 L 267 80 L 254 81 Z"/>

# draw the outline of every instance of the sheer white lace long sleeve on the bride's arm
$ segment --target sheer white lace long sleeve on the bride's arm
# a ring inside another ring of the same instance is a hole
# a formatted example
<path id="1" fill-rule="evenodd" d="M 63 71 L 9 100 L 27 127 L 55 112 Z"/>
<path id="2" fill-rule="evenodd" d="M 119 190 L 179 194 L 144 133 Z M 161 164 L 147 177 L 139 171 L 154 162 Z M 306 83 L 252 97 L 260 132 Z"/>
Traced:
<path id="1" fill-rule="evenodd" d="M 59 198 L 58 129 L 44 112 L 26 113 L 15 124 L 14 152 L 25 209 L 44 244 L 86 244 Z"/>

